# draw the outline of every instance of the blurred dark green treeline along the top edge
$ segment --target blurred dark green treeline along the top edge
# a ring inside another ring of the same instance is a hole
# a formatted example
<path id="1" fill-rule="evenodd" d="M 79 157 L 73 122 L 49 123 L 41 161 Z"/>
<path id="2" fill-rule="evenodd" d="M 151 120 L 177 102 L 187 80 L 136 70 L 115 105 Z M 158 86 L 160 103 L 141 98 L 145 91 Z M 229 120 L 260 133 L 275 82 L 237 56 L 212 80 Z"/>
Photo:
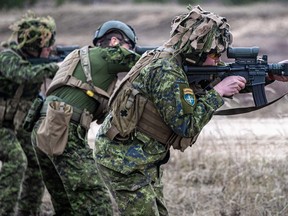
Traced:
<path id="1" fill-rule="evenodd" d="M 0 9 L 28 8 L 41 4 L 47 0 L 0 0 Z M 288 0 L 51 0 L 54 6 L 65 3 L 98 4 L 98 3 L 178 3 L 178 4 L 201 4 L 201 3 L 222 3 L 229 5 L 243 5 L 257 2 L 288 2 Z"/>

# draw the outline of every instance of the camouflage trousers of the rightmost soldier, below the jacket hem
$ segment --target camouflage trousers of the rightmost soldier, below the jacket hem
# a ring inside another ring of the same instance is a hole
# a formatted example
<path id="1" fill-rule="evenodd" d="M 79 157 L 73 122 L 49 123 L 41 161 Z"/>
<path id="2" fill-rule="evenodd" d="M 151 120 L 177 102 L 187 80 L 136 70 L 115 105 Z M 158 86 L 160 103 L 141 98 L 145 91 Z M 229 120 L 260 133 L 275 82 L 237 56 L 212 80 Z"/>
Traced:
<path id="1" fill-rule="evenodd" d="M 141 172 L 124 175 L 100 164 L 97 166 L 117 203 L 120 215 L 169 215 L 163 196 L 160 167 L 150 169 L 149 176 L 158 176 L 151 180 Z"/>

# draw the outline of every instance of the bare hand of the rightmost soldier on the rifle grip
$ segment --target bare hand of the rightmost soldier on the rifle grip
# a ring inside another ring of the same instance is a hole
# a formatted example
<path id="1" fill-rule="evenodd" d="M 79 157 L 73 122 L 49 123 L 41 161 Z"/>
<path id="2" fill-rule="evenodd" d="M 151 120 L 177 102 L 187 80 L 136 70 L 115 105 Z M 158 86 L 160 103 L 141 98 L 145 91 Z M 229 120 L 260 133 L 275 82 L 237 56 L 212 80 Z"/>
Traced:
<path id="1" fill-rule="evenodd" d="M 246 79 L 241 76 L 228 76 L 219 82 L 214 89 L 225 97 L 233 96 L 245 88 Z"/>

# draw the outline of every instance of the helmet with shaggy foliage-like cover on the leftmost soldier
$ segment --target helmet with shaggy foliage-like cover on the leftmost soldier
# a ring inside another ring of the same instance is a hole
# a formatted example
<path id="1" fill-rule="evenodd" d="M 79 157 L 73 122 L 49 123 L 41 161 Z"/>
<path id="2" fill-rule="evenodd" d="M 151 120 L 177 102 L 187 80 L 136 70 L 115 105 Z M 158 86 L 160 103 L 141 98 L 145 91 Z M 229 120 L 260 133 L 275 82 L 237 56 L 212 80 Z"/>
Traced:
<path id="1" fill-rule="evenodd" d="M 41 50 L 55 42 L 56 24 L 52 17 L 37 17 L 28 11 L 22 19 L 10 26 L 12 36 L 17 35 L 18 48 Z"/>

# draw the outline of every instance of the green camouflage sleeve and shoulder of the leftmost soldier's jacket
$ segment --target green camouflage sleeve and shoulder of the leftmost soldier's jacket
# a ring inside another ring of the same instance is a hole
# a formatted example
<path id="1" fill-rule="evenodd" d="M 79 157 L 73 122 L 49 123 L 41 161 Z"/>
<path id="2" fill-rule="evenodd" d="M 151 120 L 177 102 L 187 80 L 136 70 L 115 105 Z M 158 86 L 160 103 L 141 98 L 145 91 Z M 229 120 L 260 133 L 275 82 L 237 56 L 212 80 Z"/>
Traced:
<path id="1" fill-rule="evenodd" d="M 33 100 L 46 77 L 53 77 L 56 63 L 32 65 L 21 50 L 10 47 L 0 52 L 0 97 L 12 98 L 20 84 L 24 84 L 22 98 Z"/>

